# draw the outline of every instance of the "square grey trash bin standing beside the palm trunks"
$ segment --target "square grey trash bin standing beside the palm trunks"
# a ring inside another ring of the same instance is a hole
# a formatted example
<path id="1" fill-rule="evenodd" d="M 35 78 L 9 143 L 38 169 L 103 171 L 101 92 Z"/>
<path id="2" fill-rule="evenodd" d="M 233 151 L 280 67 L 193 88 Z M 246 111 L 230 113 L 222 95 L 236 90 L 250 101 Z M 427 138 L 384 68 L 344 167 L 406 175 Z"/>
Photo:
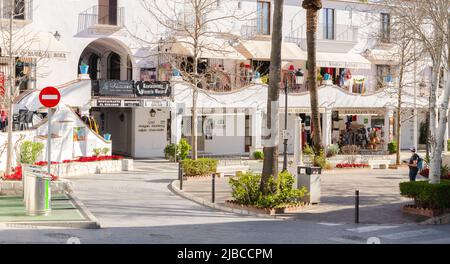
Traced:
<path id="1" fill-rule="evenodd" d="M 312 166 L 298 166 L 297 167 L 297 188 L 306 187 L 309 195 L 303 198 L 304 202 L 316 204 L 320 203 L 320 196 L 322 186 L 320 183 L 320 175 L 322 168 Z"/>

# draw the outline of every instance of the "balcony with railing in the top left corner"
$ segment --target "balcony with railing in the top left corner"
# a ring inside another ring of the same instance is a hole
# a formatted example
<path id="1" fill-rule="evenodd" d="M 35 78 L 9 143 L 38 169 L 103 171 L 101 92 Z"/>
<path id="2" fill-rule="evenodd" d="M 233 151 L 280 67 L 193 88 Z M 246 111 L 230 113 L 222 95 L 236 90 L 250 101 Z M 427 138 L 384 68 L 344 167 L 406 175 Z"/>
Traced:
<path id="1" fill-rule="evenodd" d="M 30 23 L 33 20 L 33 0 L 15 0 L 13 10 L 13 19 L 15 23 Z M 2 21 L 11 18 L 10 1 L 0 0 L 0 16 Z"/>

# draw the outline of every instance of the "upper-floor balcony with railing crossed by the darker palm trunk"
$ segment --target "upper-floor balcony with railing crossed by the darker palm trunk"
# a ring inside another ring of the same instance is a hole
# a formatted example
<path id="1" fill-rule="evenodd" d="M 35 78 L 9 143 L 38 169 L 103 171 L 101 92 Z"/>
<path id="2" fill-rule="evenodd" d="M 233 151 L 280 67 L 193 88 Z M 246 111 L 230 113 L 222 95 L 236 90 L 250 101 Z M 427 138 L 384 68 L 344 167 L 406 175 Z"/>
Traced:
<path id="1" fill-rule="evenodd" d="M 347 52 L 358 43 L 359 27 L 354 25 L 335 24 L 328 26 L 323 23 L 317 28 L 317 50 L 323 52 Z M 293 29 L 285 37 L 286 42 L 292 42 L 306 50 L 306 23 Z"/>

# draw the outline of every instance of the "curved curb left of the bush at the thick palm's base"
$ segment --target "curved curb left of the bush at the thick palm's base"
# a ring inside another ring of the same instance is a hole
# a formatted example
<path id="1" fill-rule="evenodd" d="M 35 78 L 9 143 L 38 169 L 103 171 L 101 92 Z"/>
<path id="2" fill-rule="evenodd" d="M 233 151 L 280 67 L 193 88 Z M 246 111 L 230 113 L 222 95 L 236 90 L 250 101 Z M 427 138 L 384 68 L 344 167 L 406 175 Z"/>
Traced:
<path id="1" fill-rule="evenodd" d="M 224 205 L 219 205 L 219 204 L 216 204 L 216 203 L 208 202 L 208 201 L 206 201 L 206 200 L 204 200 L 202 198 L 199 198 L 199 197 L 197 197 L 197 196 L 195 196 L 193 194 L 189 194 L 187 192 L 184 192 L 184 191 L 180 190 L 176 186 L 176 183 L 178 183 L 178 182 L 179 182 L 179 180 L 172 181 L 169 184 L 169 186 L 168 186 L 169 190 L 171 190 L 173 193 L 175 193 L 175 194 L 177 194 L 177 195 L 179 195 L 179 196 L 181 196 L 181 197 L 183 197 L 183 198 L 185 198 L 187 200 L 193 201 L 193 202 L 198 203 L 200 205 L 203 205 L 203 206 L 206 206 L 206 207 L 209 207 L 209 208 L 213 208 L 213 209 L 216 209 L 216 210 L 228 212 L 228 213 L 239 214 L 239 215 L 257 216 L 257 217 L 270 218 L 270 219 L 282 219 L 282 218 L 279 218 L 279 217 L 274 216 L 274 215 L 258 214 L 258 213 L 254 213 L 254 212 L 251 212 L 251 211 L 248 211 L 248 210 L 245 210 L 245 209 L 235 209 L 235 208 L 231 208 L 231 207 L 228 207 L 228 206 L 224 206 Z"/>

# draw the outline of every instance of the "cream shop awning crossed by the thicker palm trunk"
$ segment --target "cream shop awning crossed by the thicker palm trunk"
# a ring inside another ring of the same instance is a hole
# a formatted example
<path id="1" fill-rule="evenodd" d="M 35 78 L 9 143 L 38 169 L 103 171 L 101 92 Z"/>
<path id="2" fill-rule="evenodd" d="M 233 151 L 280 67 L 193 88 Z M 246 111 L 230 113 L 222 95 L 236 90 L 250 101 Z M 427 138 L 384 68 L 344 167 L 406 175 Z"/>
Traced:
<path id="1" fill-rule="evenodd" d="M 248 40 L 243 41 L 239 45 L 239 51 L 243 53 L 247 59 L 253 60 L 270 60 L 272 43 L 270 41 Z M 281 60 L 283 61 L 306 61 L 306 52 L 303 51 L 295 43 L 282 43 Z"/>

